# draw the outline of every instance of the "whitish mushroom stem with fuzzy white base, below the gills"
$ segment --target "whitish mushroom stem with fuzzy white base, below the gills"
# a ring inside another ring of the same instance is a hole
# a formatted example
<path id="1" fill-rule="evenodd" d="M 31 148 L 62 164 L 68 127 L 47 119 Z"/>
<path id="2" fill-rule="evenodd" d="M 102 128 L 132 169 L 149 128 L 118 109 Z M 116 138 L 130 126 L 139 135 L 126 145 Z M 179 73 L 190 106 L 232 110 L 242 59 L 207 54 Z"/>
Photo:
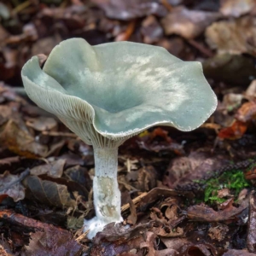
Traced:
<path id="1" fill-rule="evenodd" d="M 117 182 L 118 148 L 94 147 L 95 177 L 93 194 L 96 217 L 84 220 L 84 231 L 89 230 L 89 239 L 110 223 L 119 223 L 121 217 L 121 196 Z"/>

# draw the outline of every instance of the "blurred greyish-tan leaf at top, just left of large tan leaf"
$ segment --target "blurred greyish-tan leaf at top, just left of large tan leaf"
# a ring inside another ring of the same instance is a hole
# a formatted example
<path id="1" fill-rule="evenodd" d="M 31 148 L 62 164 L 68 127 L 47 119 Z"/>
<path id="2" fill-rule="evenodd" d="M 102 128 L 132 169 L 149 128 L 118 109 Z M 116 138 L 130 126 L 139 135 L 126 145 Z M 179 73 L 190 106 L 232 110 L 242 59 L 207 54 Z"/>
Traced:
<path id="1" fill-rule="evenodd" d="M 173 8 L 172 12 L 166 15 L 161 22 L 166 35 L 177 34 L 186 39 L 193 39 L 220 16 L 218 13 L 189 10 L 179 6 Z"/>

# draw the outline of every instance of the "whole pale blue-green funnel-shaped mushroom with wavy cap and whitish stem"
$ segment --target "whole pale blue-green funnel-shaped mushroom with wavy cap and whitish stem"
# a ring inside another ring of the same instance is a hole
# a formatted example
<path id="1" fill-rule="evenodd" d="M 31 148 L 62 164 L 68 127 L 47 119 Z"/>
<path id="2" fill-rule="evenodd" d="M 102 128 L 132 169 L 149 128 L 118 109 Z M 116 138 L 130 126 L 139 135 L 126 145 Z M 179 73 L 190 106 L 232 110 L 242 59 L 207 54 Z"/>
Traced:
<path id="1" fill-rule="evenodd" d="M 94 148 L 96 217 L 84 220 L 90 239 L 106 224 L 123 220 L 119 145 L 154 125 L 191 131 L 217 105 L 200 62 L 181 61 L 147 44 L 90 46 L 82 38 L 67 39 L 55 46 L 43 69 L 33 56 L 21 76 L 33 102 Z"/>

